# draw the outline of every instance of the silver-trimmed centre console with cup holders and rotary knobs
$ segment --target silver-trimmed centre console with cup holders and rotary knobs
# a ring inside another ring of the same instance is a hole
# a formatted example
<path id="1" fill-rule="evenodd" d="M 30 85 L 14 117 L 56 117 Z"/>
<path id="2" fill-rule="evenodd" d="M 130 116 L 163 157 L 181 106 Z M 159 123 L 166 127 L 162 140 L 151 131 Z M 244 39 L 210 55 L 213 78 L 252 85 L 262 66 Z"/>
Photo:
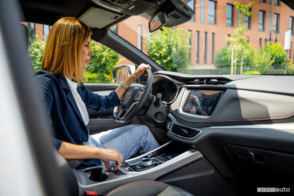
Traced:
<path id="1" fill-rule="evenodd" d="M 168 142 L 146 154 L 124 161 L 118 170 L 114 165 L 87 169 L 73 169 L 78 180 L 80 195 L 88 191 L 106 193 L 115 187 L 140 180 L 157 178 L 200 159 L 202 154 L 176 142 Z"/>

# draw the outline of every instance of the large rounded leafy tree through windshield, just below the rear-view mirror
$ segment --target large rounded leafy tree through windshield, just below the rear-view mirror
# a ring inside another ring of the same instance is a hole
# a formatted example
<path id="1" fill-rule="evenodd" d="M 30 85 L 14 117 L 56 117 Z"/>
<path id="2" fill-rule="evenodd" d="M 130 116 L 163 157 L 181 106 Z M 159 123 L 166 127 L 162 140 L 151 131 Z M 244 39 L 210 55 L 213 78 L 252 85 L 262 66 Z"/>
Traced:
<path id="1" fill-rule="evenodd" d="M 180 28 L 165 28 L 151 33 L 151 41 L 145 41 L 148 56 L 167 71 L 177 71 L 191 66 L 189 38 L 191 33 Z"/>

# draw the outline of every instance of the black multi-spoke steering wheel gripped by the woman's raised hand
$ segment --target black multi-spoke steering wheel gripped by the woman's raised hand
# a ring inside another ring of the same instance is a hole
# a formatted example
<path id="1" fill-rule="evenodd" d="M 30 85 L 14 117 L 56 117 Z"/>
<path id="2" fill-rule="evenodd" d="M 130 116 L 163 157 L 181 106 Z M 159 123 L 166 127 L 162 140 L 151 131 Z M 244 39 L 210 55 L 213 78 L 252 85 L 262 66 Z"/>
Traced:
<path id="1" fill-rule="evenodd" d="M 126 90 L 121 105 L 116 106 L 113 110 L 113 118 L 116 122 L 128 123 L 133 120 L 148 100 L 153 75 L 150 69 L 146 69 L 144 73 L 147 73 L 145 89 L 140 86 L 130 86 Z"/>

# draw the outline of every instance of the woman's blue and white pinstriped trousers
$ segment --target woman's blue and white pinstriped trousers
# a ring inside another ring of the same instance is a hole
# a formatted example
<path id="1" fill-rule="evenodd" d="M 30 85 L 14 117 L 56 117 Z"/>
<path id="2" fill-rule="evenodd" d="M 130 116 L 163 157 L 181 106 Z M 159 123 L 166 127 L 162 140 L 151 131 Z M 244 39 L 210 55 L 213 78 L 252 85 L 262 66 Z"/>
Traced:
<path id="1" fill-rule="evenodd" d="M 142 155 L 159 147 L 151 131 L 145 125 L 127 125 L 91 135 L 91 142 L 98 148 L 116 149 L 123 155 L 124 161 L 132 155 Z"/>

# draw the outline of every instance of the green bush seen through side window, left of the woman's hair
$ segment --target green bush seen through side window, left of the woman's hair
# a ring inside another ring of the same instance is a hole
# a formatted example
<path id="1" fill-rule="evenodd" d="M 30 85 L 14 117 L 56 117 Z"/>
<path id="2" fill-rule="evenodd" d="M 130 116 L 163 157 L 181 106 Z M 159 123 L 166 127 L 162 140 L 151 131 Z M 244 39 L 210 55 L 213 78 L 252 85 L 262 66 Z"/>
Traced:
<path id="1" fill-rule="evenodd" d="M 46 42 L 36 38 L 30 39 L 29 58 L 33 72 L 41 70 L 42 58 Z"/>

